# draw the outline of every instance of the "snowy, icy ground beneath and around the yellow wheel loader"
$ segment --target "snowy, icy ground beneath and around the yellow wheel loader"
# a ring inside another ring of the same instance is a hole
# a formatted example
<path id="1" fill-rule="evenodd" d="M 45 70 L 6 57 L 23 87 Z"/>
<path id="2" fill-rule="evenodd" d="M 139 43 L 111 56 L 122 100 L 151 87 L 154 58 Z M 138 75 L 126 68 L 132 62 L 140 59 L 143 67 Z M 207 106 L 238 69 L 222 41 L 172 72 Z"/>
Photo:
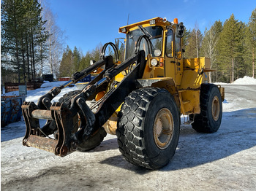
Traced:
<path id="1" fill-rule="evenodd" d="M 62 82 L 61 82 L 62 83 Z M 59 82 L 28 92 L 37 102 Z M 256 79 L 244 77 L 225 87 L 222 125 L 217 133 L 196 133 L 181 125 L 176 155 L 159 171 L 127 163 L 116 136 L 91 152 L 56 157 L 23 147 L 23 121 L 1 128 L 2 190 L 255 190 Z M 54 101 L 76 87 L 67 87 Z M 181 122 L 184 119 L 181 119 Z"/>

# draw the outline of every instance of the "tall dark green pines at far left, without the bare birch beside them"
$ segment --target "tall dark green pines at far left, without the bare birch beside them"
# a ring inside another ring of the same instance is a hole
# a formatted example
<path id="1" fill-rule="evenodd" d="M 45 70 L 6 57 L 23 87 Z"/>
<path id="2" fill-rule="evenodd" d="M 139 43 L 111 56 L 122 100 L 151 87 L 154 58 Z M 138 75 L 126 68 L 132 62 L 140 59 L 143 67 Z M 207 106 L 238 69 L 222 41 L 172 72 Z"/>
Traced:
<path id="1" fill-rule="evenodd" d="M 36 0 L 1 1 L 1 61 L 21 76 L 33 79 L 44 59 L 48 33 L 43 27 L 42 8 Z"/>

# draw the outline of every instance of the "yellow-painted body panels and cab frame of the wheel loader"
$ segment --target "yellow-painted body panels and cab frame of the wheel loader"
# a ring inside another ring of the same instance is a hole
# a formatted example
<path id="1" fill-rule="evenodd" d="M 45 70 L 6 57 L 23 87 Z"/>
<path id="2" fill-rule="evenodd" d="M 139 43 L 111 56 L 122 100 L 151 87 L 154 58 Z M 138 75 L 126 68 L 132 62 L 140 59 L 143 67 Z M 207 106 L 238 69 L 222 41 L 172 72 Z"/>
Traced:
<path id="1" fill-rule="evenodd" d="M 161 17 L 154 17 L 149 20 L 144 20 L 139 23 L 134 23 L 129 26 L 123 26 L 119 28 L 119 32 L 122 32 L 122 29 L 126 31 L 123 32 L 127 34 L 129 31 L 138 29 L 138 26 L 143 26 L 144 28 L 151 26 L 150 21 L 155 20 L 156 23 L 152 26 L 162 26 L 162 55 L 157 58 L 158 63 L 161 59 L 164 66 L 151 66 L 151 60 L 153 59 L 151 55 L 146 57 L 146 68 L 143 72 L 143 77 L 140 80 L 151 80 L 152 87 L 160 87 L 168 90 L 173 97 L 175 98 L 178 109 L 181 114 L 192 114 L 200 113 L 200 85 L 205 82 L 204 72 L 214 71 L 210 69 L 211 61 L 209 58 L 190 58 L 184 59 L 183 52 L 176 52 L 176 25 L 172 25 L 170 22 L 164 22 Z M 171 41 L 172 47 L 170 55 L 167 57 L 165 54 L 167 46 L 167 31 L 173 31 L 173 41 Z M 182 40 L 181 40 L 182 43 Z M 182 47 L 182 44 L 181 44 Z M 124 73 L 123 73 L 124 74 Z M 120 82 L 124 75 L 119 75 L 115 77 L 115 80 Z M 157 79 L 157 82 L 156 80 Z M 224 98 L 224 90 L 219 87 L 219 90 L 222 93 Z M 121 107 L 121 106 L 120 106 Z M 120 111 L 120 107 L 118 111 Z"/>

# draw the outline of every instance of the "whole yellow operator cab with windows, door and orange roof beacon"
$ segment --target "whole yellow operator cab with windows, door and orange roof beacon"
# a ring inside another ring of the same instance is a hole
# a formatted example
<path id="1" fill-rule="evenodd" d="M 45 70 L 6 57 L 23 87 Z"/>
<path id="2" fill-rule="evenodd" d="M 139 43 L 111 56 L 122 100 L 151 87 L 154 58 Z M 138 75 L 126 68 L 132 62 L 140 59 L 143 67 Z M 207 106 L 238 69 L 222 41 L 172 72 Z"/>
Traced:
<path id="1" fill-rule="evenodd" d="M 183 23 L 155 17 L 121 27 L 119 32 L 126 34 L 125 60 L 138 50 L 145 51 L 147 64 L 143 79 L 171 77 L 176 85 L 181 84 Z"/>

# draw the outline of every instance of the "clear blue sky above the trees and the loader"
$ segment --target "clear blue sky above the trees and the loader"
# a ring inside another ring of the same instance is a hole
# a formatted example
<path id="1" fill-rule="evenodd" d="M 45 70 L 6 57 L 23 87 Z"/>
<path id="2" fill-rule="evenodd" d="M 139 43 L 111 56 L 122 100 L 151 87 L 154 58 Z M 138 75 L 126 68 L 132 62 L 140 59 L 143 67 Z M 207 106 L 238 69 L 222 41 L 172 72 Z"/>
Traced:
<path id="1" fill-rule="evenodd" d="M 169 21 L 177 17 L 187 28 L 192 29 L 197 23 L 203 33 L 216 20 L 224 23 L 232 13 L 237 20 L 247 23 L 256 1 L 51 0 L 49 5 L 57 16 L 57 25 L 67 36 L 65 45 L 72 50 L 80 47 L 85 54 L 99 42 L 105 44 L 124 37 L 118 34 L 118 28 L 127 25 L 128 15 L 129 24 L 153 17 L 167 17 Z"/>

